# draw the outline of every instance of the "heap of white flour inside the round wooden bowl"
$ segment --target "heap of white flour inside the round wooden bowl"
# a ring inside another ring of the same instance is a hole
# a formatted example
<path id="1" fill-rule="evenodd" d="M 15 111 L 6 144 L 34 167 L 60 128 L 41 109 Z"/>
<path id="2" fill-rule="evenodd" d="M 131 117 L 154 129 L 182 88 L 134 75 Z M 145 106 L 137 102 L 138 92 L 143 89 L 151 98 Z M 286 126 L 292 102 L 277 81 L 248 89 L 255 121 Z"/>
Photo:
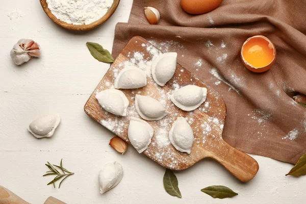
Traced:
<path id="1" fill-rule="evenodd" d="M 90 24 L 103 17 L 113 0 L 47 0 L 55 17 L 74 25 Z"/>

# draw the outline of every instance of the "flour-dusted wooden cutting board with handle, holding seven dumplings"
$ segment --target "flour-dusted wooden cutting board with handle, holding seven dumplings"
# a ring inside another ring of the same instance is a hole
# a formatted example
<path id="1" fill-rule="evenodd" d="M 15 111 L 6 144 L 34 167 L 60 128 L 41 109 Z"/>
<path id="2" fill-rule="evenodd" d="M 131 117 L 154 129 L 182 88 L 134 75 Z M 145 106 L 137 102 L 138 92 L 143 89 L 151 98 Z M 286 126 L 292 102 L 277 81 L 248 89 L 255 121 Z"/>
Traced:
<path id="1" fill-rule="evenodd" d="M 222 139 L 222 129 L 226 115 L 226 106 L 220 95 L 211 87 L 200 81 L 191 72 L 177 64 L 173 78 L 164 86 L 159 87 L 151 77 L 148 77 L 147 86 L 139 89 L 124 90 L 124 94 L 130 101 L 128 115 L 126 117 L 115 116 L 104 111 L 95 95 L 102 90 L 109 89 L 114 84 L 117 73 L 123 69 L 125 64 L 135 64 L 139 67 L 149 67 L 152 56 L 160 52 L 156 47 L 140 36 L 133 37 L 123 48 L 115 62 L 106 72 L 91 96 L 89 97 L 84 110 L 86 114 L 99 122 L 114 134 L 129 142 L 127 129 L 130 117 L 139 117 L 135 110 L 135 95 L 150 95 L 163 101 L 168 112 L 165 118 L 160 121 L 147 121 L 155 130 L 155 135 L 144 155 L 158 164 L 173 170 L 186 169 L 203 158 L 213 158 L 230 171 L 242 182 L 250 181 L 257 173 L 259 166 L 256 160 L 242 151 L 228 145 Z M 140 59 L 145 59 L 142 61 Z M 178 56 L 178 61 L 181 56 Z M 145 62 L 145 63 L 143 63 Z M 147 71 L 145 71 L 147 73 Z M 206 102 L 192 112 L 183 111 L 172 104 L 168 99 L 174 89 L 186 85 L 206 87 L 208 96 Z M 177 151 L 168 140 L 168 133 L 172 123 L 177 117 L 187 118 L 194 133 L 194 143 L 191 154 Z M 130 142 L 129 142 L 130 143 Z"/>

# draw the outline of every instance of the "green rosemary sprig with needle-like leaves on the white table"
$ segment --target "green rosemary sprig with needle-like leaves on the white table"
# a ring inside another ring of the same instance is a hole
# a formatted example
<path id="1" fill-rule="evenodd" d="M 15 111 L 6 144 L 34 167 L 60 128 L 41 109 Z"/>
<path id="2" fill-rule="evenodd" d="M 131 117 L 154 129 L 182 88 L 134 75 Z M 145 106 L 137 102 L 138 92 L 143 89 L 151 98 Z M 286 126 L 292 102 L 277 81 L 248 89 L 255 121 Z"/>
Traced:
<path id="1" fill-rule="evenodd" d="M 61 164 L 60 166 L 57 165 L 52 165 L 49 162 L 47 162 L 48 164 L 45 164 L 50 170 L 46 171 L 46 174 L 42 175 L 42 176 L 46 176 L 46 175 L 57 175 L 52 181 L 50 181 L 47 185 L 53 184 L 54 188 L 55 188 L 55 182 L 64 178 L 59 185 L 59 188 L 61 187 L 62 182 L 67 179 L 68 176 L 73 175 L 74 173 L 71 171 L 68 171 L 67 169 L 65 169 L 63 167 L 63 159 L 61 160 Z M 59 168 L 63 173 L 61 173 L 60 171 L 58 171 L 55 167 Z"/>

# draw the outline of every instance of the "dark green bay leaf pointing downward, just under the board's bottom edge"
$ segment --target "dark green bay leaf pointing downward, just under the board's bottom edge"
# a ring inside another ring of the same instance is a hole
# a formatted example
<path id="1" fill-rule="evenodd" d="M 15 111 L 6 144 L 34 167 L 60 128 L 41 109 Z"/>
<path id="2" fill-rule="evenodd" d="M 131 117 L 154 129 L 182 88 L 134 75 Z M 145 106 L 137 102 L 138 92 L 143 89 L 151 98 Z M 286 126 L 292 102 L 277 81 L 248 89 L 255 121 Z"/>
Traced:
<path id="1" fill-rule="evenodd" d="M 181 198 L 182 194 L 179 189 L 179 182 L 170 169 L 166 169 L 164 174 L 164 187 L 168 194 Z"/>

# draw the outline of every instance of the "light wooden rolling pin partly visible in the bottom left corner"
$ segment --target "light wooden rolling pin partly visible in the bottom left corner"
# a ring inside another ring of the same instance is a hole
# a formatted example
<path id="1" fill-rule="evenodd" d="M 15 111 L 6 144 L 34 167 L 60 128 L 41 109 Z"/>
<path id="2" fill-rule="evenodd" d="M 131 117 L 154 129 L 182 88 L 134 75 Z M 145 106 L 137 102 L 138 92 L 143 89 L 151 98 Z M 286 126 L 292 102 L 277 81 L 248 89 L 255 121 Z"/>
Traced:
<path id="1" fill-rule="evenodd" d="M 0 204 L 31 204 L 31 203 L 23 200 L 18 195 L 4 188 L 3 186 L 0 186 Z M 66 203 L 54 197 L 48 197 L 48 199 L 46 199 L 44 204 L 66 204 Z"/>

